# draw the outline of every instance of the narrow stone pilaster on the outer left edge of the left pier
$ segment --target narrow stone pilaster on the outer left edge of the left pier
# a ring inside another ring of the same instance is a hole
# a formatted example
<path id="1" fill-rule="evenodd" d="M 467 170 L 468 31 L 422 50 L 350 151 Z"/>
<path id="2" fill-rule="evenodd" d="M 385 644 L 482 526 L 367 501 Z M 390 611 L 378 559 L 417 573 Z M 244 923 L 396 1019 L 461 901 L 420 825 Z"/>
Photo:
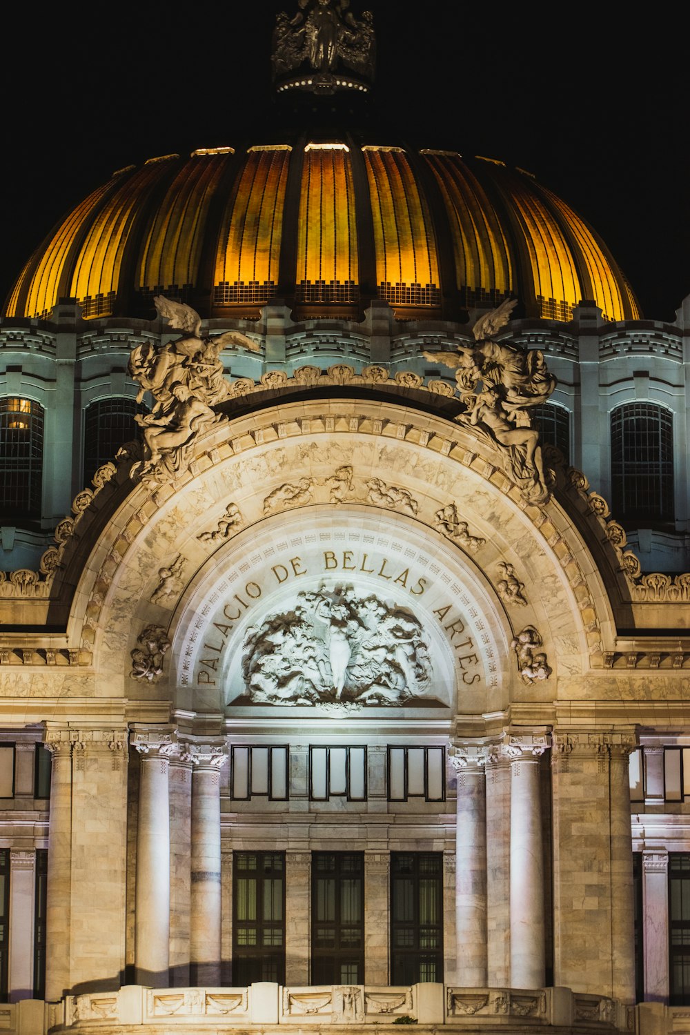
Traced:
<path id="1" fill-rule="evenodd" d="M 51 730 L 46 747 L 53 757 L 48 834 L 46 908 L 46 999 L 69 990 L 71 890 L 71 743 L 68 730 Z"/>

